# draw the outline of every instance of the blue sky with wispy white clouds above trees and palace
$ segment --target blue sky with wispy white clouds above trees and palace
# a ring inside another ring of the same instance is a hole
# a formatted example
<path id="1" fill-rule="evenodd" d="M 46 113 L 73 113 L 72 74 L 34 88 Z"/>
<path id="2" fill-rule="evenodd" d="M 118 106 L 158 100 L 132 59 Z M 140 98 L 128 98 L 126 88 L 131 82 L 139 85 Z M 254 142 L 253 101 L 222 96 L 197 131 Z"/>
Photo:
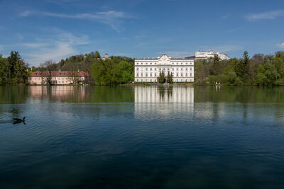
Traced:
<path id="1" fill-rule="evenodd" d="M 0 0 L 0 54 L 31 66 L 99 51 L 188 57 L 284 50 L 284 1 Z"/>

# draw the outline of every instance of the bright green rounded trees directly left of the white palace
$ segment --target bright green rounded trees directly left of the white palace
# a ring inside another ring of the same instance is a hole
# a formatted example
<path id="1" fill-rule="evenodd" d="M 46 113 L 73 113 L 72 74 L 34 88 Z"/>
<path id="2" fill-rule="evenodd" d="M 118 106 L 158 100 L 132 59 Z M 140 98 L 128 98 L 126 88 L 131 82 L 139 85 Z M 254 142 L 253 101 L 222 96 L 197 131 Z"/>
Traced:
<path id="1" fill-rule="evenodd" d="M 91 73 L 97 85 L 126 84 L 134 80 L 133 70 L 134 59 L 128 57 L 98 59 L 91 67 Z"/>

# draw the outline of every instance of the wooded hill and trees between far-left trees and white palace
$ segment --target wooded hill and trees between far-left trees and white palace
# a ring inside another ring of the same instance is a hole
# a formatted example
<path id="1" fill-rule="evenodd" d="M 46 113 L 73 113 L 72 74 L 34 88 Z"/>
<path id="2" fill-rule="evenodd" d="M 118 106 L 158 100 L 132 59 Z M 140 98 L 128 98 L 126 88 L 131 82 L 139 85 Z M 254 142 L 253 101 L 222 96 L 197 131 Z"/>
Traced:
<path id="1" fill-rule="evenodd" d="M 97 85 L 126 84 L 134 80 L 134 59 L 129 57 L 109 57 L 103 59 L 99 52 L 75 55 L 61 59 L 56 63 L 51 60 L 32 67 L 32 71 L 86 71 L 92 74 Z"/>

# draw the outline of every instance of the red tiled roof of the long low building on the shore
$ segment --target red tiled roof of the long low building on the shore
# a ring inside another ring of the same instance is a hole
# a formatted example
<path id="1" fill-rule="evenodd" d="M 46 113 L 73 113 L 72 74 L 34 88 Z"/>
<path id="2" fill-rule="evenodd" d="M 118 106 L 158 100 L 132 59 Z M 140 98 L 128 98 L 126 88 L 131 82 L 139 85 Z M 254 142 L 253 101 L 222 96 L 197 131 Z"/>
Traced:
<path id="1" fill-rule="evenodd" d="M 30 74 L 30 77 L 36 77 L 36 76 L 46 76 L 48 74 L 48 71 L 34 71 Z M 52 71 L 51 76 L 89 76 L 87 72 L 84 71 Z"/>

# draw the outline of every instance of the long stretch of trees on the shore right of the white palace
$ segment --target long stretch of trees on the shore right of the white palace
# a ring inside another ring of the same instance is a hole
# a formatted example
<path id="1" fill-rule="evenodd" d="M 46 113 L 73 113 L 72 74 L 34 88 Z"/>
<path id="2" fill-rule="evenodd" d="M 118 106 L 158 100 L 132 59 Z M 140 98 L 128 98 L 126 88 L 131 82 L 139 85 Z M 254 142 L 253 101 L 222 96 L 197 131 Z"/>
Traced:
<path id="1" fill-rule="evenodd" d="M 284 52 L 253 55 L 244 52 L 241 59 L 221 60 L 217 55 L 195 62 L 195 84 L 284 85 Z"/>

